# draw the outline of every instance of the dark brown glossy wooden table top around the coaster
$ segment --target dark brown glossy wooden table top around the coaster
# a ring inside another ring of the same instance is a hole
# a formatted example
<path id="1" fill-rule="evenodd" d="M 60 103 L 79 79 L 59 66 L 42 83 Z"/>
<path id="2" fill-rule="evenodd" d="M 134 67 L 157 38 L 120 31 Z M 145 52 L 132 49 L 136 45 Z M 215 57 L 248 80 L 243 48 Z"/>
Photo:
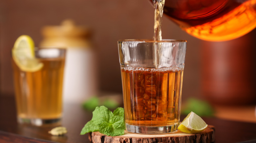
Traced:
<path id="1" fill-rule="evenodd" d="M 88 134 L 79 135 L 84 124 L 92 118 L 92 113 L 79 104 L 64 104 L 61 126 L 67 128 L 64 136 L 52 136 L 48 131 L 57 126 L 23 126 L 16 122 L 16 109 L 13 96 L 0 95 L 0 143 L 87 143 Z M 181 117 L 181 120 L 184 117 Z M 238 122 L 218 118 L 203 118 L 215 126 L 215 143 L 256 142 L 256 123 Z"/>

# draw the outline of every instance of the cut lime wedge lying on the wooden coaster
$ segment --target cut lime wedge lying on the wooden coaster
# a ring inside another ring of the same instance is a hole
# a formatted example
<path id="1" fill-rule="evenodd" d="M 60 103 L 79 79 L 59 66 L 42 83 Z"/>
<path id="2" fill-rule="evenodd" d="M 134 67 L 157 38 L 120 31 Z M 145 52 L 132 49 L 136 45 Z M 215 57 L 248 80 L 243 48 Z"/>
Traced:
<path id="1" fill-rule="evenodd" d="M 201 117 L 196 115 L 194 112 L 190 112 L 187 117 L 181 122 L 178 129 L 184 133 L 195 134 L 202 132 L 206 129 L 207 124 Z"/>

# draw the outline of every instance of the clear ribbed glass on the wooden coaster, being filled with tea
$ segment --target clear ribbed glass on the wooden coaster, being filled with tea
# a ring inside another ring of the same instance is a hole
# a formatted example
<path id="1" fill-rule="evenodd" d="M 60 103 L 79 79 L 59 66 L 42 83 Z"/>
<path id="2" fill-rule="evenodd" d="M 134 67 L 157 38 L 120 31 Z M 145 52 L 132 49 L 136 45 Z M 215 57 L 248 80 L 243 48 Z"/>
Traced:
<path id="1" fill-rule="evenodd" d="M 118 51 L 127 131 L 177 131 L 186 41 L 119 40 Z"/>

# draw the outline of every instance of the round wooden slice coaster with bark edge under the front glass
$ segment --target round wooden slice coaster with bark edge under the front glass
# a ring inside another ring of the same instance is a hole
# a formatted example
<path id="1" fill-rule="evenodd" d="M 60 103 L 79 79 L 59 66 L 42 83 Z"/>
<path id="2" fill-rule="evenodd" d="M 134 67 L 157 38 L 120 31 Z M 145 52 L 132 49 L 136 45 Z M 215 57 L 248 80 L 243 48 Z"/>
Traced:
<path id="1" fill-rule="evenodd" d="M 181 131 L 168 134 L 134 134 L 127 131 L 121 136 L 107 136 L 93 132 L 89 139 L 93 143 L 211 143 L 214 142 L 214 126 L 208 127 L 198 134 L 187 134 Z"/>

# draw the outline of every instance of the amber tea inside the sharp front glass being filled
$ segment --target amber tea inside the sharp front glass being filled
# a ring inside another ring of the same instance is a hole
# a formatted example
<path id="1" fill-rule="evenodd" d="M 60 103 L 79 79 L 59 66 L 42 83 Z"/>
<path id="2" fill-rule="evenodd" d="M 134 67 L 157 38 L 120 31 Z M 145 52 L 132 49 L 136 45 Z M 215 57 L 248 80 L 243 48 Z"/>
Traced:
<path id="1" fill-rule="evenodd" d="M 121 71 L 125 122 L 135 126 L 175 124 L 177 128 L 183 69 L 122 68 Z"/>

